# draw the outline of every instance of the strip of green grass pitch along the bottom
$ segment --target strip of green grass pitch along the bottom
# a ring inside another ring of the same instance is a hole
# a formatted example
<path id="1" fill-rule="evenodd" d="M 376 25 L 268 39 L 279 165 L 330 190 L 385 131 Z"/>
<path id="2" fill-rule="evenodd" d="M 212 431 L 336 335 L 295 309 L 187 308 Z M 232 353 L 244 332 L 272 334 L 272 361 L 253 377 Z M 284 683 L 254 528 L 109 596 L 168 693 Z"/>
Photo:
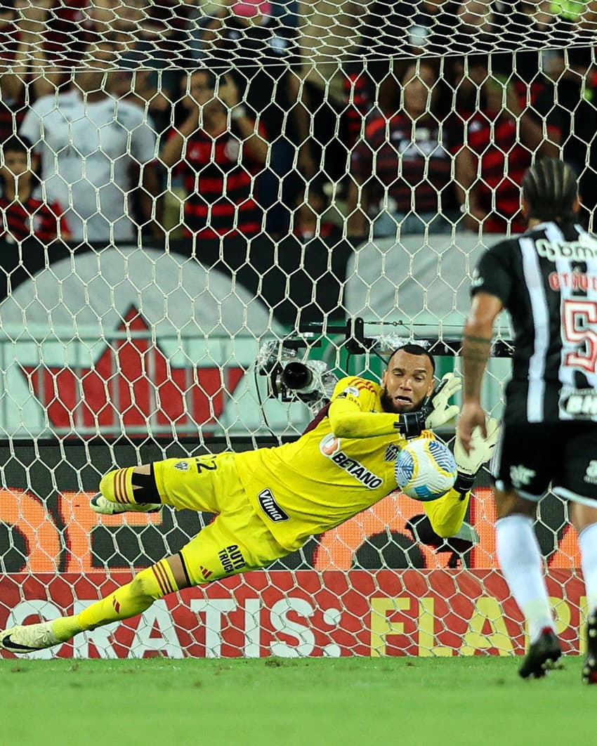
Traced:
<path id="1" fill-rule="evenodd" d="M 0 660 L 1 746 L 534 746 L 597 741 L 581 659 Z"/>

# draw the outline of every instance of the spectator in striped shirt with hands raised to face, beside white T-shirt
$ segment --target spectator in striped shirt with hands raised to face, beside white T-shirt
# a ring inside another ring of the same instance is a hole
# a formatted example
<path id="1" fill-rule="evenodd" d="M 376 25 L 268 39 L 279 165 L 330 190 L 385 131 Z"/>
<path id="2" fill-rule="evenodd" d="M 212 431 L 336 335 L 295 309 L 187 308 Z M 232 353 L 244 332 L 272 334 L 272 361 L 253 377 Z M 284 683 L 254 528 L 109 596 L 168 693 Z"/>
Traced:
<path id="1" fill-rule="evenodd" d="M 189 236 L 257 235 L 263 212 L 255 179 L 268 145 L 231 75 L 198 70 L 187 78 L 184 122 L 174 128 L 161 160 L 184 178 L 184 228 Z M 185 87 L 186 88 L 186 87 Z"/>

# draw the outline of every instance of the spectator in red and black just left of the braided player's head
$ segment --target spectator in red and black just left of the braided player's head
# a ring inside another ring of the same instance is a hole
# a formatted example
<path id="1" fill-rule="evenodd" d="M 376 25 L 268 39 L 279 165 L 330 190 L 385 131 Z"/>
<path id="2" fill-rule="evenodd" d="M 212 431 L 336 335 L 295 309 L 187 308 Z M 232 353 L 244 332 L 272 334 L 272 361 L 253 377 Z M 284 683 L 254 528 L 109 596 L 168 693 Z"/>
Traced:
<path id="1" fill-rule="evenodd" d="M 534 155 L 557 155 L 560 128 L 552 113 L 543 125 L 530 108 L 520 107 L 511 80 L 490 75 L 487 60 L 468 60 L 469 72 L 457 81 L 460 93 L 472 90 L 458 104 L 462 128 L 456 154 L 454 182 L 466 228 L 489 233 L 520 232 L 525 219 L 520 211 L 522 176 Z M 481 105 L 476 105 L 478 90 Z M 464 143 L 464 144 L 462 144 Z"/>

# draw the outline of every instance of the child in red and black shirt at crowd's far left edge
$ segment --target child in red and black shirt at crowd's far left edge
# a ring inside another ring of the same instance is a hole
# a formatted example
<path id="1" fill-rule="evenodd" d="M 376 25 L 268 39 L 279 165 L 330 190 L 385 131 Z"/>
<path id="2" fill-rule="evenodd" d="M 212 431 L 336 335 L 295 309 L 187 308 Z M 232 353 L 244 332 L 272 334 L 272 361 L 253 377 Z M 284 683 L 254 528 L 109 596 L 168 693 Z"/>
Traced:
<path id="1" fill-rule="evenodd" d="M 9 243 L 35 236 L 44 245 L 56 238 L 69 239 L 63 209 L 57 203 L 46 204 L 34 198 L 39 184 L 37 157 L 31 155 L 31 143 L 22 137 L 10 137 L 1 145 L 0 163 L 0 237 Z"/>

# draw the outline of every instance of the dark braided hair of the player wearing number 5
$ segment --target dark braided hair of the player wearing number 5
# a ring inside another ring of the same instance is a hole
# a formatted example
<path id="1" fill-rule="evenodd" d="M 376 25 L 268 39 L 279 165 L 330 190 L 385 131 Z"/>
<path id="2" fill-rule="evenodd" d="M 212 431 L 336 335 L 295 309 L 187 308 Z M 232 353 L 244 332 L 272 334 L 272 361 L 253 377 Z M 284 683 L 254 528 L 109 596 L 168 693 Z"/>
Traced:
<path id="1" fill-rule="evenodd" d="M 557 223 L 574 222 L 578 178 L 563 160 L 543 158 L 525 173 L 522 194 L 528 201 L 528 218 Z"/>

